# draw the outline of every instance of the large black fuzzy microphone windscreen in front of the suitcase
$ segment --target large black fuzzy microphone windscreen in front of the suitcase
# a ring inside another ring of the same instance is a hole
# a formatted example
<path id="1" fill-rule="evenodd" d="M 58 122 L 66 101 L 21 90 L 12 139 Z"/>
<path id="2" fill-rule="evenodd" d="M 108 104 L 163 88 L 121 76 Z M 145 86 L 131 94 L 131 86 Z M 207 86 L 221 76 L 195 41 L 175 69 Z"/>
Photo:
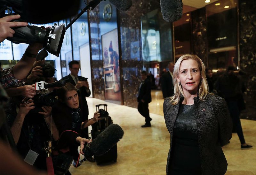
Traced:
<path id="1" fill-rule="evenodd" d="M 96 139 L 92 140 L 89 148 L 95 156 L 101 156 L 122 139 L 124 130 L 117 124 L 109 125 Z"/>

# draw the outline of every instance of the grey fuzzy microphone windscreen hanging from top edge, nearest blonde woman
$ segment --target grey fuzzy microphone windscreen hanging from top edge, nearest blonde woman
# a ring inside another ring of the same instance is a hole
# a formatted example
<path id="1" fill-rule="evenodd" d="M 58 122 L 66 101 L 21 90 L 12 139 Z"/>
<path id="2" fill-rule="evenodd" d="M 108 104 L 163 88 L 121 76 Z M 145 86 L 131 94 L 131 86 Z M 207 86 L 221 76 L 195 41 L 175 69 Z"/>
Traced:
<path id="1" fill-rule="evenodd" d="M 182 0 L 160 0 L 162 15 L 165 21 L 177 21 L 182 16 Z"/>

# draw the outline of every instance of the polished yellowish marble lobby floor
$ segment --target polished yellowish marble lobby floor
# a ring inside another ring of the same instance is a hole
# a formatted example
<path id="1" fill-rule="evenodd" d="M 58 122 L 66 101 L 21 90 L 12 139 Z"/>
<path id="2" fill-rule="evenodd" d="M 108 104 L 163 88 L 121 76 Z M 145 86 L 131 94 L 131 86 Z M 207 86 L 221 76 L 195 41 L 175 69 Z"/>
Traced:
<path id="1" fill-rule="evenodd" d="M 161 91 L 152 91 L 153 101 L 149 103 L 152 127 L 141 128 L 144 118 L 135 108 L 108 103 L 95 98 L 87 98 L 89 118 L 96 111 L 95 105 L 108 104 L 108 112 L 113 122 L 124 130 L 124 137 L 117 143 L 117 162 L 105 165 L 84 162 L 78 168 L 72 165 L 72 175 L 164 175 L 166 159 L 170 148 L 170 135 L 163 117 L 163 97 Z M 137 102 L 134 102 L 137 103 Z M 256 147 L 256 121 L 241 119 L 244 137 L 248 144 Z M 89 126 L 91 130 L 91 126 Z M 236 133 L 230 144 L 223 147 L 228 161 L 226 175 L 256 175 L 256 148 L 241 150 Z"/>

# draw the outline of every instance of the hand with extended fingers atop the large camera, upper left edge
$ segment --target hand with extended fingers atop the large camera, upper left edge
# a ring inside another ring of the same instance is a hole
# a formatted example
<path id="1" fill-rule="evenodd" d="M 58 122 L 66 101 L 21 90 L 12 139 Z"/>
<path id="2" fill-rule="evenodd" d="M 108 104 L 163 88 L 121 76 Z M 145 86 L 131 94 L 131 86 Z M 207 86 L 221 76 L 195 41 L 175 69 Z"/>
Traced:
<path id="1" fill-rule="evenodd" d="M 9 15 L 0 18 L 0 42 L 4 41 L 7 37 L 13 37 L 15 31 L 11 27 L 25 27 L 28 26 L 27 22 L 16 22 L 14 19 L 19 19 L 20 15 Z M 11 22 L 12 21 L 12 22 Z"/>

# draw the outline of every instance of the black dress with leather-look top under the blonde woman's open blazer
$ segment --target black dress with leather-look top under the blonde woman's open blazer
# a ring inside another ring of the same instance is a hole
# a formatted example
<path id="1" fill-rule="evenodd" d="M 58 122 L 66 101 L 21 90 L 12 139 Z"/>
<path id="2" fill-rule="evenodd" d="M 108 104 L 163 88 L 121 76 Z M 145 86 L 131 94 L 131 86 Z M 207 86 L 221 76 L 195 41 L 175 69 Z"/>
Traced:
<path id="1" fill-rule="evenodd" d="M 181 104 L 180 106 L 173 129 L 169 174 L 202 174 L 195 105 Z"/>

